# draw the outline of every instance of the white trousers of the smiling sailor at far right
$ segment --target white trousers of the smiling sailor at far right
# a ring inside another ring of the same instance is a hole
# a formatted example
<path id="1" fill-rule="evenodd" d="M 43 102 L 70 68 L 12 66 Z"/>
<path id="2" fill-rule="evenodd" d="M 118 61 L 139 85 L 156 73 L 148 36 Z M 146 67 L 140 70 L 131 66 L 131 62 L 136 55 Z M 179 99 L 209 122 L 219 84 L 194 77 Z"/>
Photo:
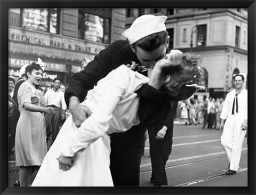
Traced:
<path id="1" fill-rule="evenodd" d="M 244 117 L 235 113 L 228 116 L 223 133 L 221 135 L 221 144 L 225 149 L 230 166 L 230 170 L 238 170 L 241 159 L 241 152 L 246 131 L 242 131 L 241 126 L 244 123 Z"/>

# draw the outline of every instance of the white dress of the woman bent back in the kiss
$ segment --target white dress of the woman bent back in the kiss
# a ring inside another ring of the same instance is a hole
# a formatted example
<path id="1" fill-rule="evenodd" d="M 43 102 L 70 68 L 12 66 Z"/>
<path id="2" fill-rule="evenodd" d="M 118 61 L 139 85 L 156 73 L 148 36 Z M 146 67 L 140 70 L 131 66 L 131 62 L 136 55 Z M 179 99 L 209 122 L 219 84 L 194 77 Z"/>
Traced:
<path id="1" fill-rule="evenodd" d="M 79 128 L 68 117 L 31 186 L 113 186 L 109 135 L 139 124 L 134 92 L 148 80 L 124 65 L 101 79 L 81 103 L 92 115 Z M 60 155 L 75 156 L 70 170 L 59 169 Z"/>

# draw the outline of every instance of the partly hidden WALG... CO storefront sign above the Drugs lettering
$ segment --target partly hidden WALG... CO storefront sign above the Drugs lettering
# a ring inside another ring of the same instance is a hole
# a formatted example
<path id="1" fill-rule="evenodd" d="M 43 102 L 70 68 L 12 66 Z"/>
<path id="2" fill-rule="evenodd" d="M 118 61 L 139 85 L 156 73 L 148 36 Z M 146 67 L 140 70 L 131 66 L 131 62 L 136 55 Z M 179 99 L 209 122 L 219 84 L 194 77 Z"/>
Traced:
<path id="1" fill-rule="evenodd" d="M 9 64 L 10 65 L 15 65 L 16 67 L 17 66 L 21 67 L 25 64 L 31 64 L 32 62 L 37 62 L 37 60 L 31 61 L 31 60 L 21 60 L 21 59 L 9 58 Z M 66 72 L 66 65 L 65 64 L 49 63 L 49 62 L 44 62 L 44 64 L 46 66 L 45 70 Z"/>

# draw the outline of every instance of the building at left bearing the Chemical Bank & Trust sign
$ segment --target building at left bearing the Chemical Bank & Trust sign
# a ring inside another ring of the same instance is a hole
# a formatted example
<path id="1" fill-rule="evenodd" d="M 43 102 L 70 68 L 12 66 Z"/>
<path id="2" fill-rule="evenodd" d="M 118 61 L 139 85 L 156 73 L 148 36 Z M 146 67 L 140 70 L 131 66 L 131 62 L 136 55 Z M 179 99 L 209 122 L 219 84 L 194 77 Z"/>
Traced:
<path id="1" fill-rule="evenodd" d="M 9 9 L 9 76 L 41 58 L 41 88 L 56 77 L 67 86 L 83 58 L 93 60 L 124 28 L 125 9 Z"/>

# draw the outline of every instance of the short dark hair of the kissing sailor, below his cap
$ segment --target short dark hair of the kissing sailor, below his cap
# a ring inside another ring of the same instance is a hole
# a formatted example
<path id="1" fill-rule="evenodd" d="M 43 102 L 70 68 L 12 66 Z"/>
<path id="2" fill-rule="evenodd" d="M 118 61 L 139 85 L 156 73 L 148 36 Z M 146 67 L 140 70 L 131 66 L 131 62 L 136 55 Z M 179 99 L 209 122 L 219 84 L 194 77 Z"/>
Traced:
<path id="1" fill-rule="evenodd" d="M 132 46 L 134 50 L 136 50 L 136 47 L 140 47 L 142 48 L 142 50 L 150 52 L 158 48 L 160 45 L 165 44 L 167 36 L 168 32 L 166 30 L 157 32 L 155 34 L 151 34 L 141 38 L 140 40 L 132 44 Z"/>

